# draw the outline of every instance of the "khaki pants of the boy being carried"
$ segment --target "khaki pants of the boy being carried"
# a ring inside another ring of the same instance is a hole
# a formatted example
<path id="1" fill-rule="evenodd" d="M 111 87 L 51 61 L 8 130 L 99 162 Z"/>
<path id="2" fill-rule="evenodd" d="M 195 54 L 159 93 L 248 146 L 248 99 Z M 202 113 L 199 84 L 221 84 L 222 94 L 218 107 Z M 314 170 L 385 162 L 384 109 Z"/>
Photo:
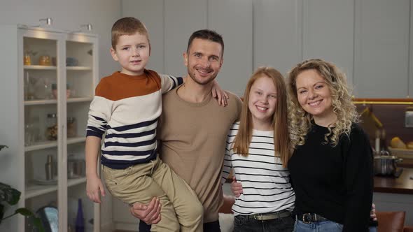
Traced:
<path id="1" fill-rule="evenodd" d="M 111 194 L 129 205 L 160 199 L 161 220 L 151 231 L 202 231 L 204 208 L 197 195 L 159 157 L 126 169 L 102 165 L 102 173 Z"/>

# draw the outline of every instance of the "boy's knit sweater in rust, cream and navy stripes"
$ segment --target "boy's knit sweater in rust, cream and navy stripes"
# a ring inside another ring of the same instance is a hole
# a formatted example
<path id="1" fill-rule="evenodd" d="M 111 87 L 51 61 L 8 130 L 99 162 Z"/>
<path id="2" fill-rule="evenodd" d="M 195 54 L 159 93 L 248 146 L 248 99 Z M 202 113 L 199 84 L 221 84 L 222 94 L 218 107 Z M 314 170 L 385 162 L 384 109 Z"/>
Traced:
<path id="1" fill-rule="evenodd" d="M 162 94 L 181 85 L 182 78 L 113 73 L 102 78 L 90 104 L 87 135 L 104 137 L 101 162 L 124 169 L 156 158 L 156 128 L 162 113 Z"/>

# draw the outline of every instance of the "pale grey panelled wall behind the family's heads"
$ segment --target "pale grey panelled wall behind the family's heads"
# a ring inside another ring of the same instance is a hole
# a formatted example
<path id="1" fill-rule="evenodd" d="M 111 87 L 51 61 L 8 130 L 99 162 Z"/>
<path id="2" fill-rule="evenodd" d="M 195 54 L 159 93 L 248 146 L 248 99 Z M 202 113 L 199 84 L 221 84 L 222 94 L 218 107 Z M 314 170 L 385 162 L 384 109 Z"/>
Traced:
<path id="1" fill-rule="evenodd" d="M 197 29 L 225 41 L 218 82 L 242 95 L 258 66 L 286 74 L 309 58 L 332 61 L 357 98 L 413 95 L 413 0 L 123 0 L 123 16 L 147 24 L 150 67 L 183 75 L 182 53 Z M 374 85 L 372 85 L 374 83 Z"/>

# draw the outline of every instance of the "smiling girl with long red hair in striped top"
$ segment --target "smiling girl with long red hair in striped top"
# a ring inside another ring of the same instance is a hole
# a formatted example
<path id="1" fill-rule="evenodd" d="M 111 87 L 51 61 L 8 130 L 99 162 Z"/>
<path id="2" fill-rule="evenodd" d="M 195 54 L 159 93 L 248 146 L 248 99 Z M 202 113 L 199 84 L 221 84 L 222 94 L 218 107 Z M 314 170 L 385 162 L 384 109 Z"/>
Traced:
<path id="1" fill-rule="evenodd" d="M 226 180 L 234 168 L 244 189 L 232 206 L 234 231 L 293 231 L 286 94 L 283 76 L 274 68 L 258 68 L 246 86 L 240 121 L 228 134 L 223 170 Z"/>

